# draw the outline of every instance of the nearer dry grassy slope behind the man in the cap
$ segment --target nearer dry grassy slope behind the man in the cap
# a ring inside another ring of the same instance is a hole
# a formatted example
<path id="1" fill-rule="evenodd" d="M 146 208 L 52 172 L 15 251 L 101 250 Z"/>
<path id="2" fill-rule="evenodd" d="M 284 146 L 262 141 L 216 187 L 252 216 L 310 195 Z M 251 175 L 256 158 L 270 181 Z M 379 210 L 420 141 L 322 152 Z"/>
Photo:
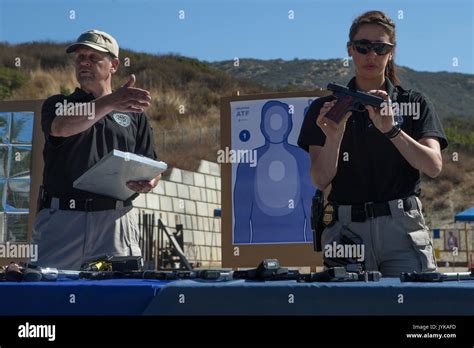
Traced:
<path id="1" fill-rule="evenodd" d="M 73 62 L 64 47 L 0 44 L 0 100 L 39 99 L 74 91 Z M 14 65 L 17 58 L 21 59 L 20 67 Z M 195 59 L 127 50 L 121 51 L 121 58 L 114 87 L 133 73 L 136 86 L 151 92 L 152 105 L 146 113 L 160 158 L 170 166 L 194 170 L 200 159 L 216 161 L 221 96 L 237 90 L 246 94 L 264 91 L 252 81 L 236 79 Z M 130 66 L 123 64 L 125 58 L 129 58 Z"/>

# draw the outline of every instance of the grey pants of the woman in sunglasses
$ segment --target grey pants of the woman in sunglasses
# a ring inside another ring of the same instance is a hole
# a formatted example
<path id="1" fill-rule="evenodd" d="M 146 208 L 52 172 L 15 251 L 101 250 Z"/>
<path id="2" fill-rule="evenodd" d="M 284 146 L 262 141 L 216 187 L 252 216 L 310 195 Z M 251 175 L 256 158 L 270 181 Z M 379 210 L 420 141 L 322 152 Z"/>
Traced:
<path id="1" fill-rule="evenodd" d="M 365 222 L 351 221 L 350 205 L 339 206 L 338 221 L 321 236 L 323 257 L 325 250 L 341 244 L 342 237 L 346 236 L 362 240 L 368 271 L 380 271 L 384 277 L 399 277 L 401 272 L 435 271 L 433 241 L 421 202 L 415 196 L 410 199 L 413 207 L 410 211 L 404 211 L 400 200 L 393 200 L 389 202 L 391 215 L 369 218 Z"/>

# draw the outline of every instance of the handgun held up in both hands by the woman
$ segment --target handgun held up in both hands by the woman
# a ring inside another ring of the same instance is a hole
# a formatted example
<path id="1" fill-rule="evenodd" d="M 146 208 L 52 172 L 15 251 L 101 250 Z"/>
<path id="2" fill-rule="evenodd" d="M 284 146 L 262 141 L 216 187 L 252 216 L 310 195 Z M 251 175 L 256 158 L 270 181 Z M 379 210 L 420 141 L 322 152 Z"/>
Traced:
<path id="1" fill-rule="evenodd" d="M 364 111 L 365 105 L 380 107 L 384 102 L 382 97 L 350 89 L 335 83 L 329 83 L 327 89 L 333 92 L 333 95 L 337 98 L 337 102 L 326 114 L 326 117 L 336 123 L 341 122 L 348 111 Z"/>

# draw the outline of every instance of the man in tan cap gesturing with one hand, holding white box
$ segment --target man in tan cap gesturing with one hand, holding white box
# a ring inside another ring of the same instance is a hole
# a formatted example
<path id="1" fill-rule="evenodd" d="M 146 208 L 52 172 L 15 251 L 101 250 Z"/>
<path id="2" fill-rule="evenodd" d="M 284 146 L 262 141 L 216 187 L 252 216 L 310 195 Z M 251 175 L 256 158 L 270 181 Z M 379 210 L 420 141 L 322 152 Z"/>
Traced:
<path id="1" fill-rule="evenodd" d="M 89 30 L 66 52 L 75 55 L 80 87 L 68 96 L 49 97 L 42 107 L 44 172 L 33 240 L 39 265 L 78 269 L 103 255 L 141 254 L 132 199 L 150 191 L 160 177 L 126 183 L 136 192 L 126 201 L 73 188 L 74 180 L 114 149 L 152 159 L 157 155 L 143 113 L 150 93 L 134 87 L 134 75 L 112 90 L 120 62 L 117 41 Z M 75 107 L 66 107 L 70 105 Z"/>

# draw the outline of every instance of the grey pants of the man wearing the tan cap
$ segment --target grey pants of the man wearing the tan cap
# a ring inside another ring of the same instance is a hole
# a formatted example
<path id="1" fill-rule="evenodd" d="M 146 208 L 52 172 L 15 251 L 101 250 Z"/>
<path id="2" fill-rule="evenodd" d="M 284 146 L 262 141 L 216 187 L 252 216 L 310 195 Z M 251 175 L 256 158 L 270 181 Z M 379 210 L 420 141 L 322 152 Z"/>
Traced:
<path id="1" fill-rule="evenodd" d="M 140 256 L 139 228 L 132 206 L 97 212 L 42 209 L 33 226 L 37 265 L 78 270 L 104 255 Z"/>

